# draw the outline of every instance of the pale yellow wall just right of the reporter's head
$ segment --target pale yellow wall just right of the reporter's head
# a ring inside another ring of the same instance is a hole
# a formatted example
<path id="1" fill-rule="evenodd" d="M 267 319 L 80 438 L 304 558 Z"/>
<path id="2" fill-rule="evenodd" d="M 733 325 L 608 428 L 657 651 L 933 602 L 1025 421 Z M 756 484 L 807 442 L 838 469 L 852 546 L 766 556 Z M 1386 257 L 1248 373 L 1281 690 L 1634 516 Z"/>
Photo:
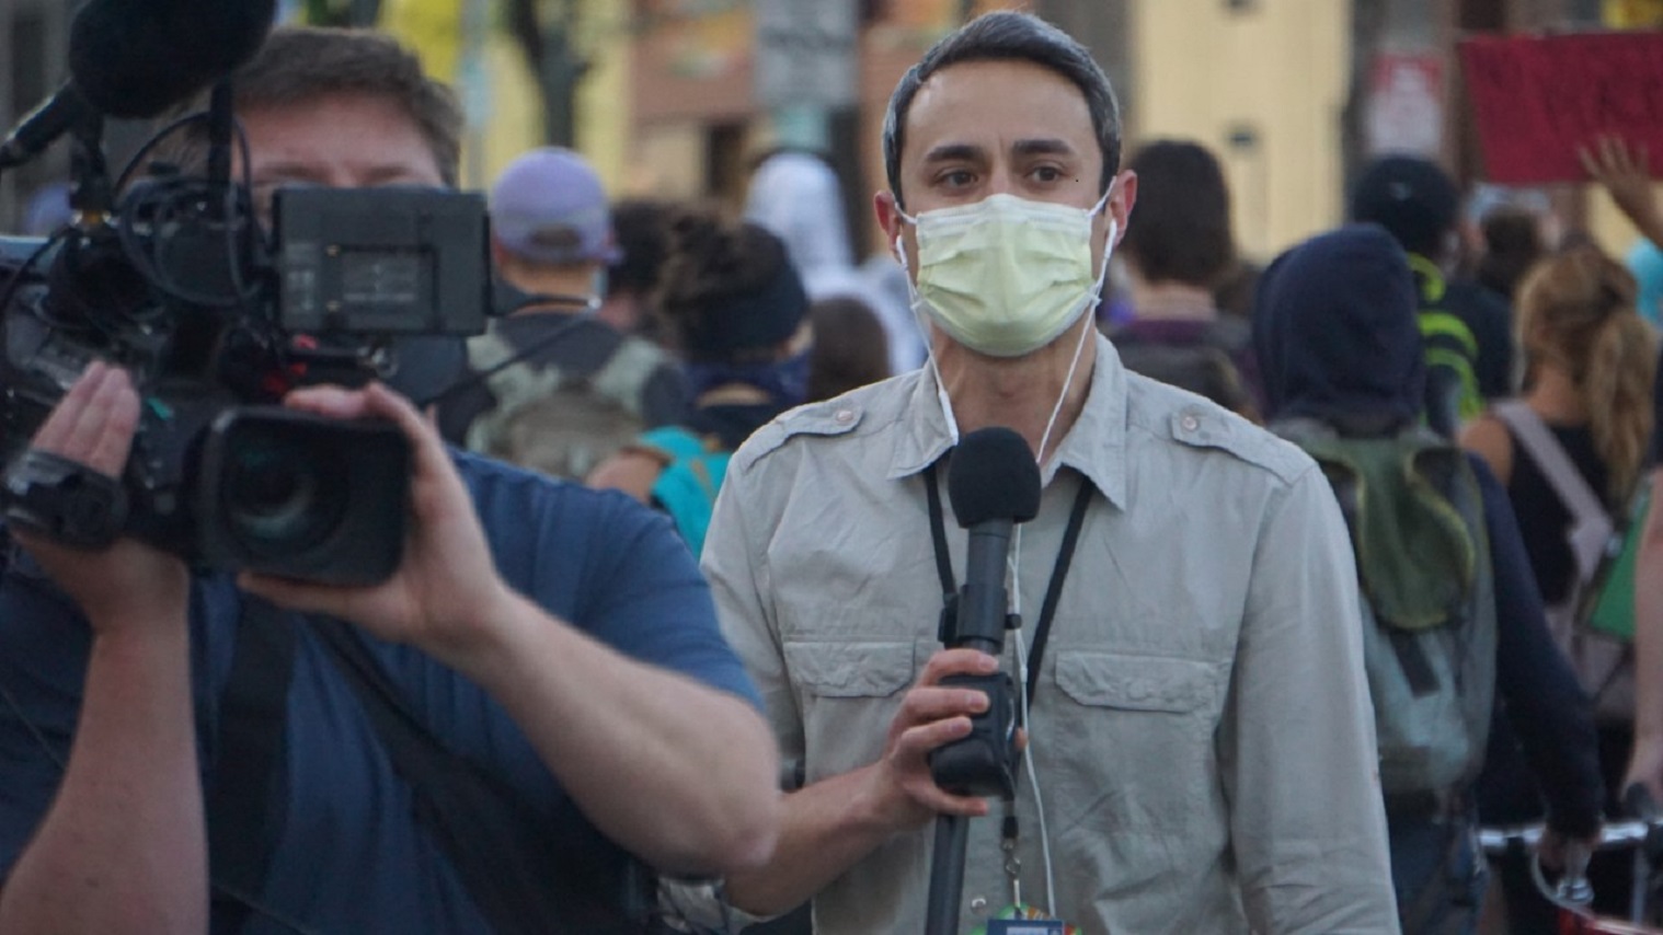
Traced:
<path id="1" fill-rule="evenodd" d="M 1244 254 L 1269 259 L 1340 221 L 1345 3 L 1133 0 L 1129 143 L 1189 138 L 1226 166 Z M 1237 128 L 1257 143 L 1231 144 Z M 1128 149 L 1131 149 L 1131 146 Z"/>

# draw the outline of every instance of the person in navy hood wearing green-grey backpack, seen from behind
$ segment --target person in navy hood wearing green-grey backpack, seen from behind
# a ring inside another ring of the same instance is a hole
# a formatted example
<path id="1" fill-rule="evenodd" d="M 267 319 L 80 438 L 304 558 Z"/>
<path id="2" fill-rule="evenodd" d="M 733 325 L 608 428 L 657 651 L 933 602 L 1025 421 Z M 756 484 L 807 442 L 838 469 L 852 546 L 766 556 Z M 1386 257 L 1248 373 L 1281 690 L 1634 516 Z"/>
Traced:
<path id="1" fill-rule="evenodd" d="M 1350 226 L 1282 254 L 1254 345 L 1271 428 L 1317 458 L 1349 520 L 1364 614 L 1335 623 L 1364 628 L 1404 932 L 1468 932 L 1492 719 L 1505 712 L 1542 782 L 1552 857 L 1598 837 L 1587 696 L 1548 636 L 1505 490 L 1422 425 L 1415 282 L 1390 234 Z"/>

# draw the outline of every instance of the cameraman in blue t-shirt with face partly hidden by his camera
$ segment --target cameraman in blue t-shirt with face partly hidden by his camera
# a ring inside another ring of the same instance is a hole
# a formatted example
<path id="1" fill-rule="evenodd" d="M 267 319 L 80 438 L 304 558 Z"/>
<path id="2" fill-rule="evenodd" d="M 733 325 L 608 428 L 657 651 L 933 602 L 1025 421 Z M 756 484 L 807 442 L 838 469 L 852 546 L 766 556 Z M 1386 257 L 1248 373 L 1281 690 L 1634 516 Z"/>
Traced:
<path id="1" fill-rule="evenodd" d="M 454 183 L 456 106 L 384 37 L 279 30 L 238 80 L 261 194 L 283 183 Z M 116 477 L 141 405 L 123 370 L 93 364 L 33 445 Z M 351 636 L 422 727 L 539 815 L 569 799 L 667 874 L 768 857 L 773 744 L 667 521 L 622 497 L 452 455 L 381 385 L 306 389 L 288 405 L 387 419 L 409 438 L 412 521 L 391 580 L 233 580 L 130 538 L 75 551 L 12 530 L 22 548 L 0 578 L 0 933 L 487 932 L 321 646 L 318 616 L 356 624 Z M 216 794 L 243 792 L 216 777 L 238 766 L 218 754 L 248 595 L 296 611 L 279 628 L 294 656 L 284 759 L 271 802 L 251 804 L 266 817 L 254 827 L 269 872 L 236 890 L 218 865 L 210 882 L 205 815 Z M 241 917 L 221 917 L 225 902 Z"/>

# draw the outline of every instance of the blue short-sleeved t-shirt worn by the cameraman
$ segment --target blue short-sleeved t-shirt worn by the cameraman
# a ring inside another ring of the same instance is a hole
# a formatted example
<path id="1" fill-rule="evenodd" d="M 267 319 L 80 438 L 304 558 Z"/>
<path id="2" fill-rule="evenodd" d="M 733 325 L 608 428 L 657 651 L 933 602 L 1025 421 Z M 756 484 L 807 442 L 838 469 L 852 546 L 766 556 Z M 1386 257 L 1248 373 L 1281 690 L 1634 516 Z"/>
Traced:
<path id="1" fill-rule="evenodd" d="M 627 656 L 760 706 L 669 520 L 619 493 L 456 458 L 511 586 Z M 191 651 L 205 787 L 239 614 L 228 575 L 198 580 Z M 283 830 L 244 932 L 489 932 L 449 860 L 416 825 L 409 789 L 353 688 L 309 628 L 298 634 Z M 479 686 L 412 648 L 368 643 L 446 746 L 489 764 L 539 807 L 564 802 L 530 742 Z M 88 648 L 81 614 L 27 558 L 17 561 L 0 580 L 0 879 L 58 786 Z M 560 659 L 549 666 L 559 669 Z"/>

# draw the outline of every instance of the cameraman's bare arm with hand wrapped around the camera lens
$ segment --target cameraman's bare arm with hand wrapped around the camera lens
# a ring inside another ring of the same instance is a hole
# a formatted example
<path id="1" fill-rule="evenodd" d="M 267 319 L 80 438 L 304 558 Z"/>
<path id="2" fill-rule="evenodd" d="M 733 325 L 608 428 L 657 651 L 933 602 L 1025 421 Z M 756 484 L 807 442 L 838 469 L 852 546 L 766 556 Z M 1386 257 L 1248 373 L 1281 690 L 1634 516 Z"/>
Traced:
<path id="1" fill-rule="evenodd" d="M 416 460 L 412 533 L 402 566 L 382 585 L 244 576 L 248 590 L 416 644 L 479 683 L 595 827 L 660 870 L 720 874 L 767 857 L 777 761 L 750 704 L 630 659 L 514 593 L 439 437 L 392 392 L 308 390 L 291 404 L 404 428 Z"/>

